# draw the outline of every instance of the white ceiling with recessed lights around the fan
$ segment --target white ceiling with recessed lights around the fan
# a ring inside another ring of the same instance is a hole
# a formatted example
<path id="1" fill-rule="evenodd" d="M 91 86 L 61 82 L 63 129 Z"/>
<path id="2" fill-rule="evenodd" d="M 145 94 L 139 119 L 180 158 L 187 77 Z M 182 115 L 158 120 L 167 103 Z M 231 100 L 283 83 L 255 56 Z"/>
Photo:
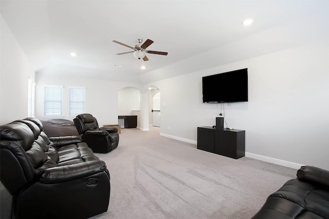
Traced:
<path id="1" fill-rule="evenodd" d="M 271 44 L 285 41 L 290 27 L 285 24 L 308 21 L 308 26 L 317 26 L 324 18 L 327 25 L 328 6 L 328 1 L 11 0 L 1 1 L 1 15 L 35 71 L 145 83 L 190 72 L 193 57 L 198 57 L 204 69 L 221 64 L 208 59 L 223 57 L 213 56 L 218 51 L 228 54 L 228 45 L 252 41 L 257 34 L 262 35 L 262 41 L 264 37 L 271 39 Z M 243 26 L 246 18 L 253 18 L 254 23 Z M 303 31 L 303 25 L 298 24 L 299 31 Z M 276 30 L 277 35 L 270 30 Z M 152 39 L 154 43 L 148 49 L 168 55 L 147 54 L 147 62 L 132 53 L 116 55 L 131 49 L 113 40 L 134 47 L 137 38 Z M 226 56 L 226 62 L 275 50 L 262 48 L 251 48 L 243 57 L 231 54 L 232 59 Z M 71 57 L 70 52 L 77 56 Z M 140 69 L 141 65 L 146 68 Z M 162 76 L 152 77 L 159 72 Z"/>

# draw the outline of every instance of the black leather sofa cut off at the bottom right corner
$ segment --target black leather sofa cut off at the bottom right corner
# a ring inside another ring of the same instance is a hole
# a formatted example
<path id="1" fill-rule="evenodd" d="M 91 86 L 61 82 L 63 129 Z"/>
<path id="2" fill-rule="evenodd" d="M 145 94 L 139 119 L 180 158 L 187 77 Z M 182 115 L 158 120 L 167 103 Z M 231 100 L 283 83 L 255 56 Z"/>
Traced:
<path id="1" fill-rule="evenodd" d="M 271 194 L 252 219 L 329 218 L 329 171 L 303 166 Z"/>

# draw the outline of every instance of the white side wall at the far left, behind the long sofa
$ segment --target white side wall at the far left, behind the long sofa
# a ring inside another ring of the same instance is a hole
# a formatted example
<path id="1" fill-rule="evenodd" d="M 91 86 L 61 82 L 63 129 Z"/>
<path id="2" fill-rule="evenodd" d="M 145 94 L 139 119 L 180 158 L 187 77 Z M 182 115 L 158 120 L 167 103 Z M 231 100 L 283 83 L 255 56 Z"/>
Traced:
<path id="1" fill-rule="evenodd" d="M 28 116 L 28 79 L 34 81 L 28 59 L 1 16 L 0 124 Z"/>

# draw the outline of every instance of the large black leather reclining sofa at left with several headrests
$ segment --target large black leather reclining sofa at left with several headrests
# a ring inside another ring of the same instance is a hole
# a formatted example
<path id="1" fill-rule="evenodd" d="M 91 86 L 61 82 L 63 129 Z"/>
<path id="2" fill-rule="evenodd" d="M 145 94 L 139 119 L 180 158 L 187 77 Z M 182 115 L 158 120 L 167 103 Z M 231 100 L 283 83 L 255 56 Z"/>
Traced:
<path id="1" fill-rule="evenodd" d="M 11 218 L 87 218 L 107 211 L 109 172 L 79 136 L 50 137 L 36 118 L 0 126 Z"/>

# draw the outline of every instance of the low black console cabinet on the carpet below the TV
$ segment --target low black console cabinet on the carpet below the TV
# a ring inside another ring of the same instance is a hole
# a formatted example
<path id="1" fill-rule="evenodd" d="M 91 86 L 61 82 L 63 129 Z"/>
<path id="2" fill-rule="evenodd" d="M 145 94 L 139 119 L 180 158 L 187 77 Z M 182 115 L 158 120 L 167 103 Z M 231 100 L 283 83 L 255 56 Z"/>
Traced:
<path id="1" fill-rule="evenodd" d="M 245 130 L 197 127 L 197 149 L 234 159 L 245 156 Z"/>

